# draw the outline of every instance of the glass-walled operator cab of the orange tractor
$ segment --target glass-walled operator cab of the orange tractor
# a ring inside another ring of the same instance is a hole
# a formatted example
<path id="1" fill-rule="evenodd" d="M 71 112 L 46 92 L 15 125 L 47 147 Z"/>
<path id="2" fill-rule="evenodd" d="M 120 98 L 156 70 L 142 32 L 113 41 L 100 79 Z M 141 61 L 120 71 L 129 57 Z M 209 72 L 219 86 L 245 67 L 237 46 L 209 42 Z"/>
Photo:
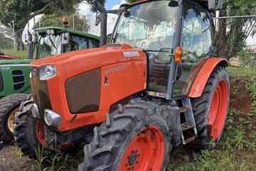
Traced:
<path id="1" fill-rule="evenodd" d="M 146 53 L 150 95 L 166 99 L 187 96 L 196 67 L 214 55 L 209 10 L 220 9 L 221 4 L 186 0 L 124 4 L 112 43 L 132 45 Z"/>

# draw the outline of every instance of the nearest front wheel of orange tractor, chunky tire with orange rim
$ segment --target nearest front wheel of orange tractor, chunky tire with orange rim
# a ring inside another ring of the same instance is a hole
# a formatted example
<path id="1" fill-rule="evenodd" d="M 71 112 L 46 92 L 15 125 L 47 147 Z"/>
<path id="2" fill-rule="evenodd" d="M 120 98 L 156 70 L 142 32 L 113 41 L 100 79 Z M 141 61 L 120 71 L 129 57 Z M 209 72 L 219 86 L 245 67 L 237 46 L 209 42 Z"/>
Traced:
<path id="1" fill-rule="evenodd" d="M 100 127 L 95 127 L 78 170 L 166 170 L 171 151 L 168 110 L 144 101 L 124 109 L 119 105 Z"/>

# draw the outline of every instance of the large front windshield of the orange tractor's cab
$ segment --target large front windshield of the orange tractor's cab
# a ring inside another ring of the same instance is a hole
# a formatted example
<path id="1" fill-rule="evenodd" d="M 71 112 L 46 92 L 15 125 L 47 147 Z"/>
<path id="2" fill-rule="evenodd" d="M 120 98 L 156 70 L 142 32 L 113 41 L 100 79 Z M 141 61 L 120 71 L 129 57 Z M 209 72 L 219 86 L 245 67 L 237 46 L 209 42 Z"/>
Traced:
<path id="1" fill-rule="evenodd" d="M 114 32 L 114 43 L 153 51 L 170 50 L 176 28 L 176 8 L 170 1 L 151 1 L 122 13 Z"/>

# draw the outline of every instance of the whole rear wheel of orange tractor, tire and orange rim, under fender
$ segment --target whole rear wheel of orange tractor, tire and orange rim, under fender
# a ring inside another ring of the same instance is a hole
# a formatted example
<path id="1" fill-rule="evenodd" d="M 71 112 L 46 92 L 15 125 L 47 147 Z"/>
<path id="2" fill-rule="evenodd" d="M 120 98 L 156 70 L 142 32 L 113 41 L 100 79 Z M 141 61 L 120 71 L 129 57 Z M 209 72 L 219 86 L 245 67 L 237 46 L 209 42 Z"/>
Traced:
<path id="1" fill-rule="evenodd" d="M 191 143 L 197 150 L 213 148 L 220 141 L 228 114 L 230 82 L 224 67 L 211 73 L 201 97 L 191 99 L 198 138 Z"/>

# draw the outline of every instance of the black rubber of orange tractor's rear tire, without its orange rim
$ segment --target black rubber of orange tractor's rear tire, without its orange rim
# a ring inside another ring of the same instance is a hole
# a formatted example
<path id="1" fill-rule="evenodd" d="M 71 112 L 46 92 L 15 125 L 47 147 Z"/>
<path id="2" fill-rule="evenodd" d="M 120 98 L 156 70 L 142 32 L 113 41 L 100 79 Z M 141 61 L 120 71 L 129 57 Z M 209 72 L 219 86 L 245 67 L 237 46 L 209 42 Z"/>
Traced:
<path id="1" fill-rule="evenodd" d="M 215 91 L 215 87 L 217 86 L 218 82 L 224 79 L 228 84 L 228 105 L 230 101 L 230 81 L 228 78 L 228 72 L 225 70 L 224 67 L 217 66 L 211 73 L 206 87 L 203 89 L 202 96 L 198 98 L 191 98 L 191 104 L 193 108 L 193 114 L 196 121 L 196 128 L 198 131 L 198 138 L 191 142 L 191 145 L 196 150 L 203 150 L 206 148 L 214 148 L 215 145 L 218 144 L 220 141 L 220 137 L 223 133 L 225 123 L 222 128 L 222 132 L 217 140 L 213 141 L 210 140 L 209 131 L 208 131 L 208 115 L 210 111 L 210 102 L 213 97 L 213 93 Z M 227 110 L 228 113 L 228 110 Z M 225 120 L 227 115 L 225 117 Z"/>

